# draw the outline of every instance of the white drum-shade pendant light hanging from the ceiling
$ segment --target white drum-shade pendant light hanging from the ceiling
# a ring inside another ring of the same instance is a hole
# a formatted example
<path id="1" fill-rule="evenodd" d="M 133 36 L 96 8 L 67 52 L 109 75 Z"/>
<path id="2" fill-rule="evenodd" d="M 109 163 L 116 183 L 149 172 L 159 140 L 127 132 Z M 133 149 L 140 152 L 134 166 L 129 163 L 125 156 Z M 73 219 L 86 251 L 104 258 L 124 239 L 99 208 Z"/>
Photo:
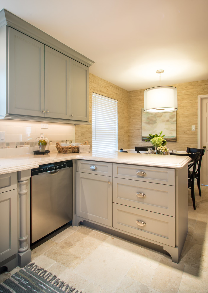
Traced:
<path id="1" fill-rule="evenodd" d="M 157 70 L 156 73 L 163 73 Z M 177 88 L 175 86 L 156 86 L 144 91 L 144 112 L 164 113 L 178 110 Z"/>

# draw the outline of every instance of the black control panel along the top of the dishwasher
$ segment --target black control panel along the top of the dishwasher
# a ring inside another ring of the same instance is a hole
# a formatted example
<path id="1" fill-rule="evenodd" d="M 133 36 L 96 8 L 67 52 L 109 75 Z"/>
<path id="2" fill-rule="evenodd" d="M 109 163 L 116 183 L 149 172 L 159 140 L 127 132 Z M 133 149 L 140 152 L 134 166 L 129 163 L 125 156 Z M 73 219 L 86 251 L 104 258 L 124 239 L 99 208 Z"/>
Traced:
<path id="1" fill-rule="evenodd" d="M 56 171 L 68 167 L 72 167 L 72 160 L 40 165 L 38 168 L 34 168 L 31 170 L 31 175 L 34 176 L 41 173 Z"/>

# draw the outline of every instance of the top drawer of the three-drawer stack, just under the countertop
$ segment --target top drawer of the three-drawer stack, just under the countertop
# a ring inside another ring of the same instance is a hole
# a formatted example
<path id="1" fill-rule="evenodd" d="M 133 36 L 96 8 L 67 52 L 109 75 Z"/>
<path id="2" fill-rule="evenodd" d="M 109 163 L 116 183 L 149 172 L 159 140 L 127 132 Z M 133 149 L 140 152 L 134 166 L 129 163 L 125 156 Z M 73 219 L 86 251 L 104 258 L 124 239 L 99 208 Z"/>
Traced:
<path id="1" fill-rule="evenodd" d="M 168 168 L 113 164 L 113 177 L 175 185 L 175 170 Z"/>

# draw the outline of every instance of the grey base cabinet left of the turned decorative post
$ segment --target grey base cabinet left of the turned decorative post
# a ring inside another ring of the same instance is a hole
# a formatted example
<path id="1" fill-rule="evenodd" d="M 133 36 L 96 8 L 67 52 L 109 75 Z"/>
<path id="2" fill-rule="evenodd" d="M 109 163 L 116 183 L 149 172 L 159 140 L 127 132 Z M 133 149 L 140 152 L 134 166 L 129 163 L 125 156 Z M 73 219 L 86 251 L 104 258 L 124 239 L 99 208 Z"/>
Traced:
<path id="1" fill-rule="evenodd" d="M 18 265 L 17 173 L 0 175 L 0 267 Z"/>

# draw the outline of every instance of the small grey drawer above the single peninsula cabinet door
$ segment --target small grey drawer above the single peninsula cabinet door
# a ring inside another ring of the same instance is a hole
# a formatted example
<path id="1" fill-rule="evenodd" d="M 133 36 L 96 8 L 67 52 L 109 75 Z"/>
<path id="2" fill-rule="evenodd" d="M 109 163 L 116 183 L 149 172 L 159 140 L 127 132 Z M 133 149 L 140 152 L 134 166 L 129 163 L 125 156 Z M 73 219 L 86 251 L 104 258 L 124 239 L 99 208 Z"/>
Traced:
<path id="1" fill-rule="evenodd" d="M 77 160 L 77 172 L 112 176 L 112 163 Z"/>

